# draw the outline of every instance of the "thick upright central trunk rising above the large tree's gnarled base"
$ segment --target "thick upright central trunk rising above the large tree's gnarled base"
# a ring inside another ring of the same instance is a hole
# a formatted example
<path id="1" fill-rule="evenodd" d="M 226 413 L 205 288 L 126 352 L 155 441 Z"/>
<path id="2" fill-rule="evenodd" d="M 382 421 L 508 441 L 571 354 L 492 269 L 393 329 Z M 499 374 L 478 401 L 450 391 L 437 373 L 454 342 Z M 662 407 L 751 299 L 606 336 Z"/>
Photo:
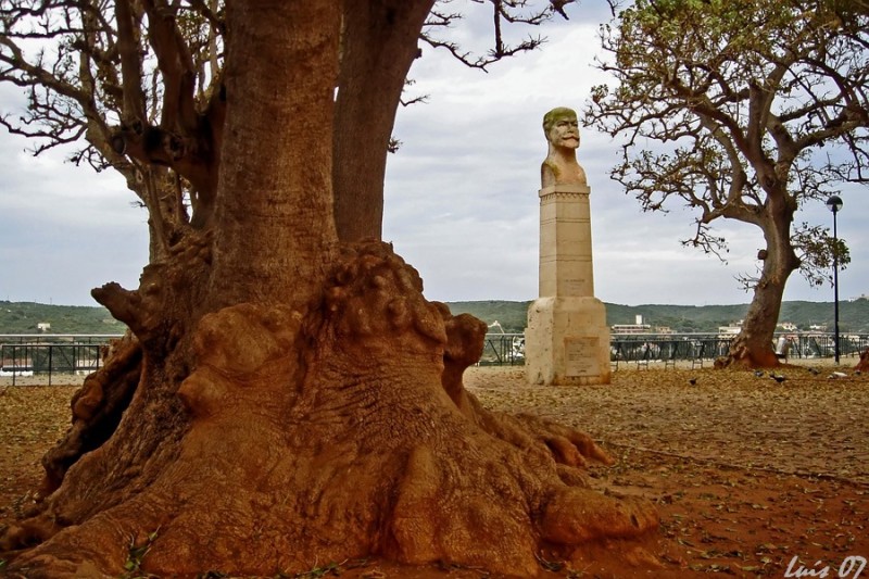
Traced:
<path id="1" fill-rule="evenodd" d="M 297 2 L 229 4 L 210 310 L 306 305 L 337 241 L 330 172 L 340 11 L 335 2 L 315 2 L 324 7 L 311 13 L 285 3 Z M 268 17 L 274 5 L 280 11 Z"/>

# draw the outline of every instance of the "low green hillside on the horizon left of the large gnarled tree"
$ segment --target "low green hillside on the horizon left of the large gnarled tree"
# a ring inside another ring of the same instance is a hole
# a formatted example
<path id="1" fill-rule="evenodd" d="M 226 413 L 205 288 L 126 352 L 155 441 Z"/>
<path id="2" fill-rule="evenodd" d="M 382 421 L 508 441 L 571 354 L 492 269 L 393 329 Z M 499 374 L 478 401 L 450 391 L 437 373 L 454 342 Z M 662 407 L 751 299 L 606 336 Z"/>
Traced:
<path id="1" fill-rule="evenodd" d="M 0 300 L 0 333 L 40 333 L 37 324 L 51 325 L 42 333 L 124 333 L 127 329 L 104 307 Z"/>

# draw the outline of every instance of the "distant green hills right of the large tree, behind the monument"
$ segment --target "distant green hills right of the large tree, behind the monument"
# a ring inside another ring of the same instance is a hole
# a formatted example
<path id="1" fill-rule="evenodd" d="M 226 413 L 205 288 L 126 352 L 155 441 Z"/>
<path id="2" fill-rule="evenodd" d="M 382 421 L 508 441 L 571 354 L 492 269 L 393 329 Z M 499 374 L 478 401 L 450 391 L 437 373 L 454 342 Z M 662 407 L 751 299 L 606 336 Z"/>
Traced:
<path id="1" fill-rule="evenodd" d="M 521 332 L 526 326 L 530 302 L 479 301 L 451 302 L 453 314 L 468 313 L 487 324 L 498 320 L 507 333 Z M 666 326 L 675 331 L 717 331 L 745 317 L 748 304 L 740 305 L 619 305 L 606 304 L 607 325 L 633 324 L 637 316 L 653 328 Z M 780 322 L 790 322 L 799 329 L 813 325 L 827 325 L 833 329 L 832 302 L 784 302 Z M 839 303 L 841 331 L 869 332 L 869 300 Z"/>

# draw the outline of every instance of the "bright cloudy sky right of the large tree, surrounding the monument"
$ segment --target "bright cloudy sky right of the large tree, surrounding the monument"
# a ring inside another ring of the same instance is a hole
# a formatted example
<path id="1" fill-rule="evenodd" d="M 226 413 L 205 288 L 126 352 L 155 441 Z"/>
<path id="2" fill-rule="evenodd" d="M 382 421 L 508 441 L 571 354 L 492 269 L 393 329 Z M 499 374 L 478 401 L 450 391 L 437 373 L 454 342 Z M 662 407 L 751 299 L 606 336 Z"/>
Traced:
<path id="1" fill-rule="evenodd" d="M 414 90 L 431 98 L 399 112 L 395 134 L 405 144 L 389 160 L 385 235 L 420 270 L 431 299 L 537 297 L 542 116 L 561 105 L 581 111 L 591 87 L 608 80 L 592 67 L 596 25 L 575 17 L 543 32 L 550 41 L 541 51 L 496 64 L 489 74 L 430 50 L 412 71 Z M 643 213 L 608 178 L 617 155 L 608 136 L 582 133 L 578 158 L 592 186 L 597 297 L 628 304 L 748 302 L 751 293 L 736 278 L 756 272 L 760 230 L 716 223 L 729 242 L 727 264 L 683 248 L 680 240 L 692 236 L 694 217 L 679 207 L 667 215 Z M 869 205 L 859 194 L 843 193 L 846 209 L 839 216 L 853 257 L 840 276 L 843 298 L 869 292 L 869 275 L 860 267 L 869 248 L 858 226 Z M 822 205 L 805 215 L 829 225 Z M 829 301 L 832 291 L 810 288 L 794 274 L 785 298 Z"/>

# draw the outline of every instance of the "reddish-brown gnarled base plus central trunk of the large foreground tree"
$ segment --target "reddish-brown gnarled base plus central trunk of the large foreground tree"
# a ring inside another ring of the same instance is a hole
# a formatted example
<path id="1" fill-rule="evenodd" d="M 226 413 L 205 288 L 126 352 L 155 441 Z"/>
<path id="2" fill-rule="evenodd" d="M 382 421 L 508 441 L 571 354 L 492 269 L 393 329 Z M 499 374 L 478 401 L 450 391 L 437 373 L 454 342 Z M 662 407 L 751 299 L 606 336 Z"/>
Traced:
<path id="1" fill-rule="evenodd" d="M 137 545 L 158 576 L 376 555 L 528 577 L 543 547 L 579 558 L 653 531 L 650 503 L 590 488 L 580 467 L 612 461 L 587 436 L 468 394 L 483 324 L 426 301 L 390 246 L 338 242 L 336 3 L 239 1 L 227 17 L 213 227 L 137 290 L 95 290 L 138 340 L 106 373 L 135 374 L 141 355 L 138 387 L 5 533 L 9 574 L 116 577 Z M 79 420 L 123 394 L 101 377 Z"/>

